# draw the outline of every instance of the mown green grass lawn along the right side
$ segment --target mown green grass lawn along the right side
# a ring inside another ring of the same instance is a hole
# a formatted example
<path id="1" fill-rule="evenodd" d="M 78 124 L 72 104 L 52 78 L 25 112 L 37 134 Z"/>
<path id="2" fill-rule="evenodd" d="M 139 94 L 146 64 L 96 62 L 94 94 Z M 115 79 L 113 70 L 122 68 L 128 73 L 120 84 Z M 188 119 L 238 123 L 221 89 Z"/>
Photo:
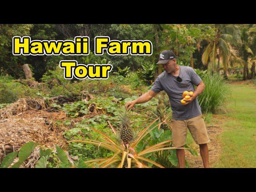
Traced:
<path id="1" fill-rule="evenodd" d="M 252 84 L 230 84 L 232 96 L 228 117 L 218 140 L 222 150 L 215 168 L 256 167 L 256 87 Z"/>

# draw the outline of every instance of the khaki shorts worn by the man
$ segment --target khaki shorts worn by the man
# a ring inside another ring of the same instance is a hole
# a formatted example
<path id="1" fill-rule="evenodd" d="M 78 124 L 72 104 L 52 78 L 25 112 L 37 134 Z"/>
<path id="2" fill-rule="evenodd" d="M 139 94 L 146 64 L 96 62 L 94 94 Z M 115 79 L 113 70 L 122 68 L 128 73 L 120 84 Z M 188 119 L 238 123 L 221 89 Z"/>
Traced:
<path id="1" fill-rule="evenodd" d="M 172 119 L 172 146 L 182 147 L 186 144 L 187 128 L 196 144 L 210 142 L 202 115 L 187 120 Z"/>

